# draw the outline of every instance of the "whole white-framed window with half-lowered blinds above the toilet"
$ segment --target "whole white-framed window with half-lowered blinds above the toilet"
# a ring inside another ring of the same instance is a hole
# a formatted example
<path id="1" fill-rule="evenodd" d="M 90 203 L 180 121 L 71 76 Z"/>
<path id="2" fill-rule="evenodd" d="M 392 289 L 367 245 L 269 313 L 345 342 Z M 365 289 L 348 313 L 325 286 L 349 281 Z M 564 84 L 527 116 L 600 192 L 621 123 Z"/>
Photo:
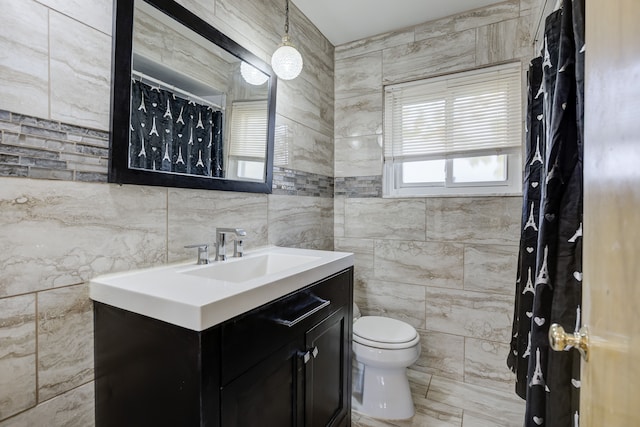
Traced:
<path id="1" fill-rule="evenodd" d="M 520 63 L 385 87 L 385 196 L 518 194 Z"/>

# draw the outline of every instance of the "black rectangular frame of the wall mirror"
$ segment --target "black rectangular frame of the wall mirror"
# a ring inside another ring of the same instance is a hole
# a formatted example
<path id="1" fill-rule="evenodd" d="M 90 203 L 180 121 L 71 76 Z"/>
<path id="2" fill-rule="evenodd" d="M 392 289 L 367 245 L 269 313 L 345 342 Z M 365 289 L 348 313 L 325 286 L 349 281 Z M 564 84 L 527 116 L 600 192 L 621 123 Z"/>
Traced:
<path id="1" fill-rule="evenodd" d="M 109 141 L 109 182 L 155 185 L 248 193 L 271 193 L 276 117 L 276 84 L 273 70 L 263 60 L 240 46 L 210 24 L 172 0 L 143 0 L 182 25 L 248 62 L 269 76 L 267 153 L 264 182 L 201 177 L 129 168 L 129 123 L 131 114 L 131 67 L 133 51 L 134 2 L 114 0 L 113 61 L 111 79 L 111 128 Z"/>

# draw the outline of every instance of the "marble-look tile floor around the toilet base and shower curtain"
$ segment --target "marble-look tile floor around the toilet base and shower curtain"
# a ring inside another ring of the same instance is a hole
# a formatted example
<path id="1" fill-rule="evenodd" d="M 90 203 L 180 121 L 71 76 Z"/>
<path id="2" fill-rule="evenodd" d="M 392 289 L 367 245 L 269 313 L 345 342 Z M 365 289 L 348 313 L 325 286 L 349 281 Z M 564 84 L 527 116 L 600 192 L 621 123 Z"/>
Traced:
<path id="1" fill-rule="evenodd" d="M 410 420 L 374 420 L 357 412 L 353 427 L 520 427 L 524 401 L 515 393 L 408 369 L 416 406 Z"/>

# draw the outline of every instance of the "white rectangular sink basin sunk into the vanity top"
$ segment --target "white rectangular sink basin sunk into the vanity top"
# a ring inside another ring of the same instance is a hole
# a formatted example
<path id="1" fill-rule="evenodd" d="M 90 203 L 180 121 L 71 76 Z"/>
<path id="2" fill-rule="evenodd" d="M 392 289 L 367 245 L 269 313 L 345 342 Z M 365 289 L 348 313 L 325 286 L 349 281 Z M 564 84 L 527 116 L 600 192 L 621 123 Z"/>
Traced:
<path id="1" fill-rule="evenodd" d="M 226 282 L 246 282 L 259 279 L 283 270 L 317 261 L 320 257 L 266 253 L 254 257 L 236 258 L 224 262 L 214 262 L 205 266 L 180 271 L 182 274 L 204 277 Z"/>

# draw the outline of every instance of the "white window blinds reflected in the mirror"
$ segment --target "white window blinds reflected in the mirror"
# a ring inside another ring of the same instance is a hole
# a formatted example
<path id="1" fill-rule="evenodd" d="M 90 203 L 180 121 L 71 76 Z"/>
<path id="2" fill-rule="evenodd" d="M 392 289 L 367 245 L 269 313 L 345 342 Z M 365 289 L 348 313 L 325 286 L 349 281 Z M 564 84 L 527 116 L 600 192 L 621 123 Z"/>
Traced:
<path id="1" fill-rule="evenodd" d="M 267 152 L 267 101 L 234 102 L 229 155 L 263 159 Z"/>

